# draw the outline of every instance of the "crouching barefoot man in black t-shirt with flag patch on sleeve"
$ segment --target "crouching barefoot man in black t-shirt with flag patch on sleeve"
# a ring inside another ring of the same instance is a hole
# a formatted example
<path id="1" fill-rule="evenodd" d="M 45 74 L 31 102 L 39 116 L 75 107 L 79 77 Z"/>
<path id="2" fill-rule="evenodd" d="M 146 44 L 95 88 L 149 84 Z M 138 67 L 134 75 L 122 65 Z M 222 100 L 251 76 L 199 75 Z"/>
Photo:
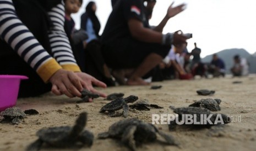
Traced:
<path id="1" fill-rule="evenodd" d="M 106 63 L 119 82 L 127 85 L 147 85 L 141 77 L 157 66 L 174 44 L 186 43 L 186 37 L 179 32 L 162 34 L 167 21 L 184 10 L 184 4 L 167 10 L 165 18 L 155 28 L 150 28 L 144 2 L 117 1 L 102 33 L 102 53 Z"/>

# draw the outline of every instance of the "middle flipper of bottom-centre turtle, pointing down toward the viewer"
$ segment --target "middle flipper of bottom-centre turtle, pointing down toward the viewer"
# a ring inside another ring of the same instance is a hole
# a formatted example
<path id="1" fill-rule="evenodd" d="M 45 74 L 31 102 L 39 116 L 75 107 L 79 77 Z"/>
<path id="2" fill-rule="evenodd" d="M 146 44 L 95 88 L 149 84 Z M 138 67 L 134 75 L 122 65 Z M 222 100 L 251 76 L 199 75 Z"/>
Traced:
<path id="1" fill-rule="evenodd" d="M 127 144 L 127 146 L 132 149 L 136 150 L 136 142 L 134 140 L 134 132 L 136 131 L 137 127 L 135 125 L 130 125 L 124 130 L 122 135 L 122 142 Z"/>

